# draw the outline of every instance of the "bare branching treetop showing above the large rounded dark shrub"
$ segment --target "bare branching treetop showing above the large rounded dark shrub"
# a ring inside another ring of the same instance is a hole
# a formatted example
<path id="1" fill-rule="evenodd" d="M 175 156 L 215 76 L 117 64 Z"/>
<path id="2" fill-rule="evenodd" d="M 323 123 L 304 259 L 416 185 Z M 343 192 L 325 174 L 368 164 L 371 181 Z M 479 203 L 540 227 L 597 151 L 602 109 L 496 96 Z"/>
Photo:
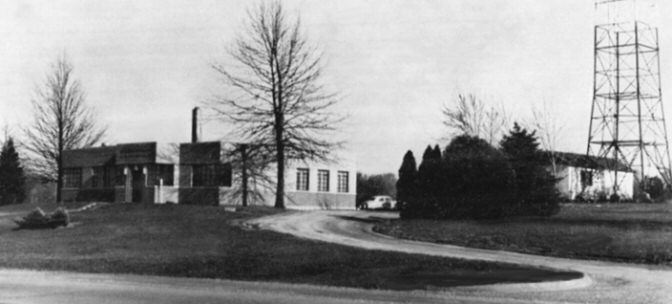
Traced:
<path id="1" fill-rule="evenodd" d="M 501 107 L 486 106 L 474 95 L 458 95 L 455 107 L 443 106 L 445 120 L 443 124 L 453 134 L 468 134 L 495 144 L 506 132 L 509 117 Z"/>

